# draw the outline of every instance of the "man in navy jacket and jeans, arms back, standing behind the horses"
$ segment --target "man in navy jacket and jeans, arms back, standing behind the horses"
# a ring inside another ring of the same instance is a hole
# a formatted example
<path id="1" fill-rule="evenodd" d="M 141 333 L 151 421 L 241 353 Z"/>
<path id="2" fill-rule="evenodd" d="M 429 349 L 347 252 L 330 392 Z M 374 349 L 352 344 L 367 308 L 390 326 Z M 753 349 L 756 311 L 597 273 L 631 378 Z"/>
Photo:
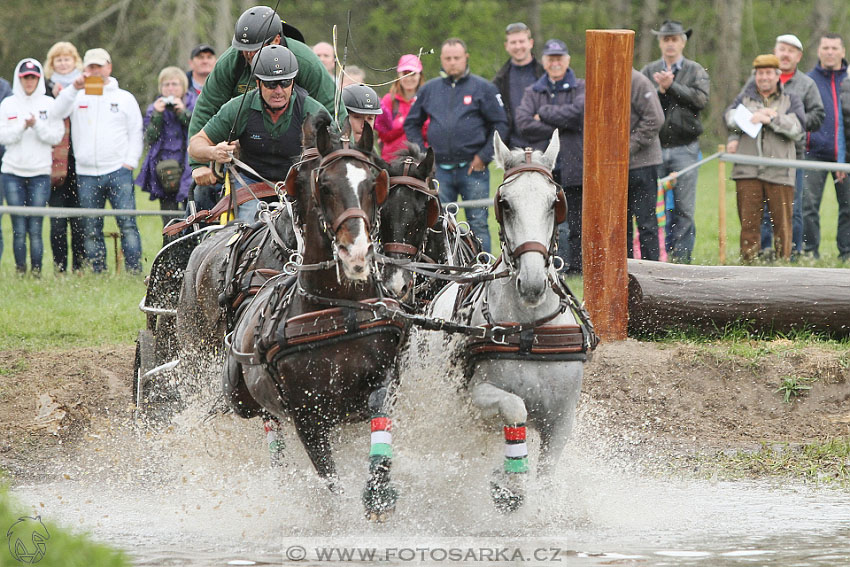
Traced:
<path id="1" fill-rule="evenodd" d="M 437 158 L 440 201 L 486 199 L 490 196 L 493 134 L 508 133 L 508 119 L 496 86 L 469 72 L 463 40 L 449 38 L 440 50 L 440 78 L 425 83 L 404 121 L 410 142 L 425 148 L 422 125 L 430 118 L 428 145 Z M 490 250 L 487 207 L 469 208 L 466 218 L 484 250 Z"/>

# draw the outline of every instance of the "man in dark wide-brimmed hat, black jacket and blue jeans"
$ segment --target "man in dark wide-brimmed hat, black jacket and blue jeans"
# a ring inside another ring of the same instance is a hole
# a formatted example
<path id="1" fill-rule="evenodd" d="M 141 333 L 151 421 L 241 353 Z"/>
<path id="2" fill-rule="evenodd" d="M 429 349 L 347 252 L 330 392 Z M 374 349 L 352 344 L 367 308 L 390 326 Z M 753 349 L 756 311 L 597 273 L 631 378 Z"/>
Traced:
<path id="1" fill-rule="evenodd" d="M 663 163 L 658 175 L 665 176 L 699 160 L 699 113 L 708 104 L 708 73 L 702 65 L 682 55 L 691 30 L 681 22 L 667 20 L 658 30 L 661 59 L 646 65 L 641 72 L 652 81 L 664 109 L 661 139 Z M 694 210 L 697 197 L 697 170 L 676 178 L 673 209 L 668 210 L 667 253 L 674 262 L 690 263 L 696 240 Z"/>

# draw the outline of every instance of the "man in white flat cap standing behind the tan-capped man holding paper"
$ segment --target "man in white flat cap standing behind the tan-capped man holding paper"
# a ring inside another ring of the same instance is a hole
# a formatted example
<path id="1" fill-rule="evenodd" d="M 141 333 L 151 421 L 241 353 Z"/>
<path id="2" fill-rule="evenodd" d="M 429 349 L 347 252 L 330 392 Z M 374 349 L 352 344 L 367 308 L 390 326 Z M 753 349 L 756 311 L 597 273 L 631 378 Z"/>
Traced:
<path id="1" fill-rule="evenodd" d="M 803 128 L 806 132 L 814 132 L 823 123 L 824 108 L 818 86 L 814 79 L 797 69 L 803 58 L 803 42 L 794 34 L 783 34 L 776 38 L 773 54 L 779 59 L 779 80 L 782 82 L 782 90 L 786 93 L 796 95 L 803 103 L 806 113 L 806 121 Z M 749 86 L 747 82 L 743 90 Z M 741 92 L 743 92 L 743 90 Z M 806 154 L 806 137 L 803 136 L 796 144 L 797 159 L 804 159 Z M 794 209 L 792 213 L 792 257 L 796 257 L 803 251 L 803 170 L 797 170 L 796 182 L 794 184 Z M 773 228 L 770 217 L 765 211 L 761 223 L 761 253 L 772 250 Z"/>

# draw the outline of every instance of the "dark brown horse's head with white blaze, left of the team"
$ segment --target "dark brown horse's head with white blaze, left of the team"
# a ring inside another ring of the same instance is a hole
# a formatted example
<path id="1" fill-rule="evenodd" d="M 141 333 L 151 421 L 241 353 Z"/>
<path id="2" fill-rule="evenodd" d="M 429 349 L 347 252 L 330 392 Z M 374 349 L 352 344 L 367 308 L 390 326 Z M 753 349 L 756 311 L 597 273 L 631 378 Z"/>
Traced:
<path id="1" fill-rule="evenodd" d="M 302 143 L 304 148 L 315 148 L 315 153 L 303 170 L 290 172 L 287 192 L 299 202 L 305 241 L 311 234 L 322 238 L 345 277 L 365 281 L 373 260 L 370 231 L 388 191 L 387 172 L 371 155 L 372 128 L 367 124 L 360 140 L 351 144 L 346 132 L 332 132 L 330 118 L 320 114 L 304 121 Z"/>

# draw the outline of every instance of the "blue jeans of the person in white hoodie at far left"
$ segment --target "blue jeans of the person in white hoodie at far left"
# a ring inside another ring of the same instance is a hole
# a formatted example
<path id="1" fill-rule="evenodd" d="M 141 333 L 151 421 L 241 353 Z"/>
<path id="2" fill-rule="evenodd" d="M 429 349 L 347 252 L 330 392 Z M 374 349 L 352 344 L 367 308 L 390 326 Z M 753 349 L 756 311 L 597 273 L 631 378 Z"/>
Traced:
<path id="1" fill-rule="evenodd" d="M 46 207 L 50 198 L 50 176 L 20 177 L 3 174 L 6 202 L 12 207 Z M 33 271 L 41 271 L 44 244 L 41 240 L 41 225 L 44 217 L 12 215 L 12 250 L 15 266 L 19 272 L 27 269 L 27 236 L 30 240 L 30 263 Z"/>

